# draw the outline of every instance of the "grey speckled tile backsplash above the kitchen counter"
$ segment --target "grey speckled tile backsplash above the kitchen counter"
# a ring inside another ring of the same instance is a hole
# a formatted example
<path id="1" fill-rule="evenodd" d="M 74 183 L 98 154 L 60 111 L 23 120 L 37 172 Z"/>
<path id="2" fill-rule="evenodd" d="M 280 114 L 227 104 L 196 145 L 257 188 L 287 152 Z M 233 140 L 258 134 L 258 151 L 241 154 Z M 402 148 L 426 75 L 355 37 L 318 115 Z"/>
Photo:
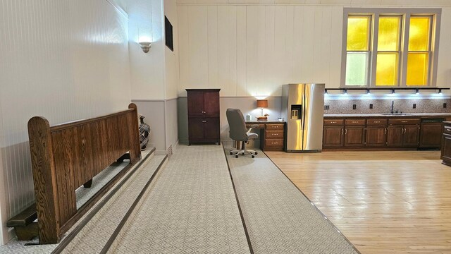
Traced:
<path id="1" fill-rule="evenodd" d="M 398 112 L 451 113 L 451 99 L 393 99 L 393 102 L 393 109 Z M 324 114 L 381 114 L 390 113 L 392 99 L 324 99 L 324 106 Z"/>

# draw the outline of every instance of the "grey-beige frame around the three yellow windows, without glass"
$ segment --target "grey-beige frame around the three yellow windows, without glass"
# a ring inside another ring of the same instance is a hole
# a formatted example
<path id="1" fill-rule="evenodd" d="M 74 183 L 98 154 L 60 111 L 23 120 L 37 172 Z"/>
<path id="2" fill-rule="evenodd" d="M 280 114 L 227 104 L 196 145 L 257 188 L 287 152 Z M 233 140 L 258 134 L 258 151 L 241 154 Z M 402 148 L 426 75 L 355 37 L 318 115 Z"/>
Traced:
<path id="1" fill-rule="evenodd" d="M 440 41 L 440 19 L 441 8 L 343 8 L 343 31 L 342 31 L 342 56 L 341 56 L 341 78 L 340 87 L 436 87 L 438 44 Z M 348 16 L 371 16 L 370 28 L 370 54 L 369 54 L 369 83 L 368 85 L 346 85 L 346 59 L 347 59 L 347 18 Z M 378 54 L 378 26 L 379 16 L 401 16 L 400 56 L 398 66 L 397 85 L 376 86 L 376 62 Z M 407 83 L 407 56 L 409 54 L 409 28 L 410 16 L 431 16 L 430 30 L 430 57 L 428 59 L 428 80 L 426 85 L 406 85 Z"/>

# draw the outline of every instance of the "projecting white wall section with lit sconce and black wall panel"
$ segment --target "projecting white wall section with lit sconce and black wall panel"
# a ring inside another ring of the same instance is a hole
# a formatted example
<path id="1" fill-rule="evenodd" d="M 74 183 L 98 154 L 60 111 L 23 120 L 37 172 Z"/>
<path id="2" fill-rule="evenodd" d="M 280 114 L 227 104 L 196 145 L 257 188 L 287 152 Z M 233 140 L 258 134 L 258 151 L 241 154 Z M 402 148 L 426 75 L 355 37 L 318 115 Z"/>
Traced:
<path id="1" fill-rule="evenodd" d="M 172 102 L 179 85 L 177 6 L 175 0 L 122 1 L 130 18 L 132 101 L 139 104 L 138 111 L 152 129 L 149 145 L 156 147 L 156 154 L 166 154 L 178 140 L 177 107 Z M 165 15 L 173 25 L 174 52 L 164 40 Z M 152 48 L 144 54 L 137 42 L 146 34 Z"/>

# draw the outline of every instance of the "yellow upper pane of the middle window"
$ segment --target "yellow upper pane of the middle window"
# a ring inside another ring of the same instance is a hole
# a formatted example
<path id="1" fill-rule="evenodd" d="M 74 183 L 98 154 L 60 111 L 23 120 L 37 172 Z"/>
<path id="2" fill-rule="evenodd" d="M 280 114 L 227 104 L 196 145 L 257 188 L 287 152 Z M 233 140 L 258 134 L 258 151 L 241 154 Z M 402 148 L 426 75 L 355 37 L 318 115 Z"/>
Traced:
<path id="1" fill-rule="evenodd" d="M 400 16 L 379 18 L 378 50 L 398 51 L 400 49 Z"/>

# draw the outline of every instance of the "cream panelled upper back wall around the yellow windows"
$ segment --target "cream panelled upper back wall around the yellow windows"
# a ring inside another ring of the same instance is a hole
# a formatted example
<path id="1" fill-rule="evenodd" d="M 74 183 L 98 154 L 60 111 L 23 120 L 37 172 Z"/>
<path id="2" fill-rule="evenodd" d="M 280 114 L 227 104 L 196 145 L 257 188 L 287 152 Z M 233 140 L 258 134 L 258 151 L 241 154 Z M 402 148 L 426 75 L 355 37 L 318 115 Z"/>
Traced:
<path id="1" fill-rule="evenodd" d="M 279 96 L 285 83 L 339 87 L 345 6 L 448 6 L 442 14 L 437 85 L 450 85 L 450 1 L 244 2 L 178 0 L 179 95 L 185 96 L 187 87 L 221 88 L 226 97 Z"/>

